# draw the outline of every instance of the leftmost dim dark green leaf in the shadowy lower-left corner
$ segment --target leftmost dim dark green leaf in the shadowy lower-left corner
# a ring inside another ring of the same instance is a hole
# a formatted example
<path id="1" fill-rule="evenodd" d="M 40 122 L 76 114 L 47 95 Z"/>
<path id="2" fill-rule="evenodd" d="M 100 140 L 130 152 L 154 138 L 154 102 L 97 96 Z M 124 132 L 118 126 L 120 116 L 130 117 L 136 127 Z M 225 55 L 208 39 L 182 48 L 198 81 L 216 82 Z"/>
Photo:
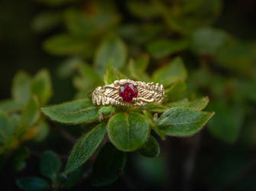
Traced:
<path id="1" fill-rule="evenodd" d="M 12 167 L 15 171 L 24 169 L 26 166 L 26 159 L 31 154 L 28 147 L 18 147 L 12 157 Z"/>

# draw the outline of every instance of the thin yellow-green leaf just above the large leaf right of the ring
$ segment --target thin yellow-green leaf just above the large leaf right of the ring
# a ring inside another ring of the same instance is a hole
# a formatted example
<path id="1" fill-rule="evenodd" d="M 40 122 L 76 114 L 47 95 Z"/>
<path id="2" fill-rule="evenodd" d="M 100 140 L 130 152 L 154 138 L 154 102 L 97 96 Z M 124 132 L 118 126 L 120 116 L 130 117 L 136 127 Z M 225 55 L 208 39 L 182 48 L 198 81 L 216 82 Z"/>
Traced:
<path id="1" fill-rule="evenodd" d="M 172 102 L 167 104 L 167 107 L 173 108 L 173 107 L 179 107 L 179 108 L 193 108 L 196 110 L 203 110 L 206 108 L 206 106 L 209 103 L 209 98 L 208 97 L 203 97 L 201 99 L 196 99 L 192 102 Z"/>

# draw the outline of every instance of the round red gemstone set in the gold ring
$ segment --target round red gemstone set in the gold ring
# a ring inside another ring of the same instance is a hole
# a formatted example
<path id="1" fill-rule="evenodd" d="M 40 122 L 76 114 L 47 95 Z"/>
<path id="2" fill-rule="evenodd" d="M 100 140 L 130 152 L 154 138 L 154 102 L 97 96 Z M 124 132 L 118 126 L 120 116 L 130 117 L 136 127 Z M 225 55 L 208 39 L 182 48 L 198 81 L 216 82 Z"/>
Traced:
<path id="1" fill-rule="evenodd" d="M 132 102 L 138 96 L 138 89 L 132 83 L 124 83 L 119 88 L 119 95 L 125 102 Z"/>

